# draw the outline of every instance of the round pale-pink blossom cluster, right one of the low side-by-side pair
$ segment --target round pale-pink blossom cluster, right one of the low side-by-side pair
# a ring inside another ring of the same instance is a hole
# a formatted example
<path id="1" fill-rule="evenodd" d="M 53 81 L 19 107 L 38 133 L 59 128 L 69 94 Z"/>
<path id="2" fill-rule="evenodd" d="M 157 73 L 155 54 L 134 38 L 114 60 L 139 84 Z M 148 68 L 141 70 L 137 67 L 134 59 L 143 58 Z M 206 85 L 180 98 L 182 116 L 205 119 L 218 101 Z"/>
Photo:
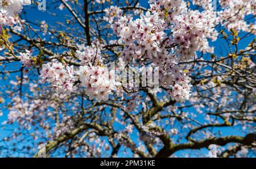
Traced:
<path id="1" fill-rule="evenodd" d="M 80 66 L 77 75 L 82 82 L 81 85 L 86 88 L 86 95 L 92 100 L 96 98 L 97 102 L 108 100 L 109 94 L 117 90 L 118 82 L 115 81 L 115 70 L 108 70 L 104 66 Z"/>

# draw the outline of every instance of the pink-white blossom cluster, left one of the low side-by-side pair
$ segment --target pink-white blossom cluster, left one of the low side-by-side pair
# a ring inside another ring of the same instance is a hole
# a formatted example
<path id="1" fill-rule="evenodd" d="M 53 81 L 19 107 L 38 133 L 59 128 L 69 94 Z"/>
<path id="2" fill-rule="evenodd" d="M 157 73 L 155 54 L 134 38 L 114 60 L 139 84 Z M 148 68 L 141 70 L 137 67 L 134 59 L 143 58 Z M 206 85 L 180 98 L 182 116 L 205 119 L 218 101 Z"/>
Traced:
<path id="1" fill-rule="evenodd" d="M 57 92 L 69 93 L 75 82 L 73 66 L 63 65 L 60 62 L 48 62 L 40 71 L 43 82 L 51 83 Z"/>

